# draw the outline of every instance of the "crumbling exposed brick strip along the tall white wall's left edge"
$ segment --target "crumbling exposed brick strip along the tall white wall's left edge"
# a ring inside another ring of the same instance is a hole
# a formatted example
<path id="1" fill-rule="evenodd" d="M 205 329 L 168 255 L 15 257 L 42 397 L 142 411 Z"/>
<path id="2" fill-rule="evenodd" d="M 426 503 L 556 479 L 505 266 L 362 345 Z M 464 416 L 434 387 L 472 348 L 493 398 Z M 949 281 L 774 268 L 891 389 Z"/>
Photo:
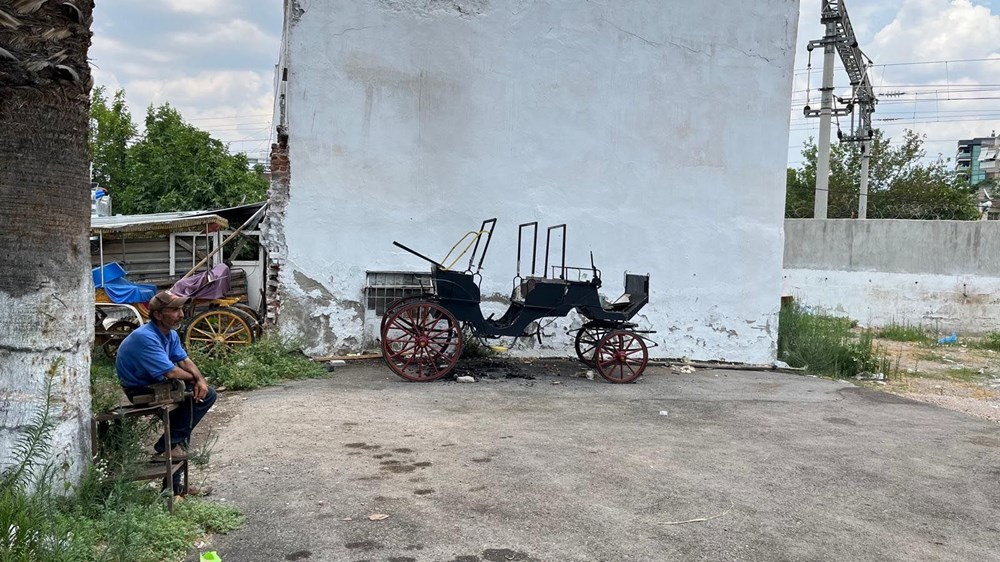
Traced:
<path id="1" fill-rule="evenodd" d="M 278 142 L 271 145 L 271 188 L 268 191 L 268 212 L 261 230 L 267 248 L 267 314 L 265 322 L 274 325 L 281 310 L 280 273 L 287 256 L 284 220 L 288 209 L 291 163 L 288 160 L 288 135 L 278 127 Z"/>

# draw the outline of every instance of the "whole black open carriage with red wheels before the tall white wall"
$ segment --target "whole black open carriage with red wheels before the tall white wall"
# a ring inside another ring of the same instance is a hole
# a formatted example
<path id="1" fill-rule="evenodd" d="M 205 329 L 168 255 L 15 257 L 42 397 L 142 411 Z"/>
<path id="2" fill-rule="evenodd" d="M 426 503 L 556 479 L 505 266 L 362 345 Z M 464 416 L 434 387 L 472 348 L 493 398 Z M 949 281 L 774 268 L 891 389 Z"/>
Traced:
<path id="1" fill-rule="evenodd" d="M 624 294 L 604 301 L 598 292 L 601 272 L 593 256 L 589 268 L 566 266 L 565 224 L 548 229 L 542 275 L 535 275 L 538 223 L 524 223 L 518 229 L 517 273 L 510 304 L 499 318 L 484 316 L 479 271 L 495 226 L 496 219 L 488 219 L 479 231 L 467 235 L 471 238 L 466 250 L 471 248 L 472 253 L 464 271 L 453 269 L 454 262 L 445 266 L 393 242 L 430 262 L 432 285 L 427 293 L 398 299 L 386 309 L 380 335 L 389 368 L 411 381 L 440 379 L 454 369 L 466 338 L 540 338 L 541 319 L 565 317 L 575 310 L 585 319 L 575 335 L 576 354 L 583 363 L 613 383 L 630 383 L 642 376 L 649 348 L 656 344 L 645 336 L 651 331 L 640 330 L 631 320 L 649 302 L 649 275 L 626 273 Z M 522 277 L 521 247 L 526 233 L 532 236 L 531 271 Z M 562 257 L 561 263 L 552 265 L 550 276 L 553 233 L 562 235 Z"/>

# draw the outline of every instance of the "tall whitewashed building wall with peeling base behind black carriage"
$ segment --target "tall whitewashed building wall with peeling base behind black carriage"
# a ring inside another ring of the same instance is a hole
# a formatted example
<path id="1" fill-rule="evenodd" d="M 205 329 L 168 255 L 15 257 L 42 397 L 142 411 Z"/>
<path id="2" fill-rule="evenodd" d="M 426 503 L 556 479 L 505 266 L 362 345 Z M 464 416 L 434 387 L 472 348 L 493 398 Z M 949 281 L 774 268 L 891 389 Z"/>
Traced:
<path id="1" fill-rule="evenodd" d="M 567 223 L 568 265 L 592 250 L 610 298 L 626 269 L 651 274 L 654 356 L 773 359 L 797 17 L 788 0 L 289 2 L 279 325 L 312 353 L 357 349 L 365 271 L 428 269 L 393 240 L 441 259 L 498 217 L 484 296 L 510 294 L 518 223 Z M 563 328 L 528 353 L 572 353 Z"/>

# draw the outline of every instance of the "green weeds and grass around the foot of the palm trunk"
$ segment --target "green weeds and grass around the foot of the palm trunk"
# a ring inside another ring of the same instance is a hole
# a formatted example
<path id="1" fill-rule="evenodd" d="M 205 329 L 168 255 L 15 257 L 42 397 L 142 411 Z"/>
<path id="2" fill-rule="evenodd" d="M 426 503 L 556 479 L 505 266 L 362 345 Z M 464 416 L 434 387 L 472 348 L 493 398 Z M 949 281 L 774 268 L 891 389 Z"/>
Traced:
<path id="1" fill-rule="evenodd" d="M 98 436 L 101 457 L 80 483 L 66 483 L 65 465 L 45 462 L 55 424 L 48 372 L 47 400 L 24 429 L 10 464 L 0 472 L 0 560 L 3 562 L 179 560 L 201 536 L 242 524 L 229 506 L 191 500 L 167 513 L 157 487 L 133 482 L 136 461 L 153 424 L 116 420 Z M 106 378 L 98 365 L 92 377 Z M 120 390 L 118 391 L 120 393 Z"/>

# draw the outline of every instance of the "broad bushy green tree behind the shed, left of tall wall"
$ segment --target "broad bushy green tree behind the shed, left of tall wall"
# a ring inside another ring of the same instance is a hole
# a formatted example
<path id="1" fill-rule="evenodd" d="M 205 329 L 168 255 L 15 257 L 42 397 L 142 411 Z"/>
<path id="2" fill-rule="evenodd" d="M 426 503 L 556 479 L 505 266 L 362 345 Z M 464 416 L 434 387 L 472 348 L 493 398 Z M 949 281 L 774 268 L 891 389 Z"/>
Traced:
<path id="1" fill-rule="evenodd" d="M 125 180 L 112 188 L 116 212 L 218 209 L 261 201 L 268 182 L 245 154 L 229 154 L 164 104 L 146 111 L 146 134 L 128 148 Z"/>

